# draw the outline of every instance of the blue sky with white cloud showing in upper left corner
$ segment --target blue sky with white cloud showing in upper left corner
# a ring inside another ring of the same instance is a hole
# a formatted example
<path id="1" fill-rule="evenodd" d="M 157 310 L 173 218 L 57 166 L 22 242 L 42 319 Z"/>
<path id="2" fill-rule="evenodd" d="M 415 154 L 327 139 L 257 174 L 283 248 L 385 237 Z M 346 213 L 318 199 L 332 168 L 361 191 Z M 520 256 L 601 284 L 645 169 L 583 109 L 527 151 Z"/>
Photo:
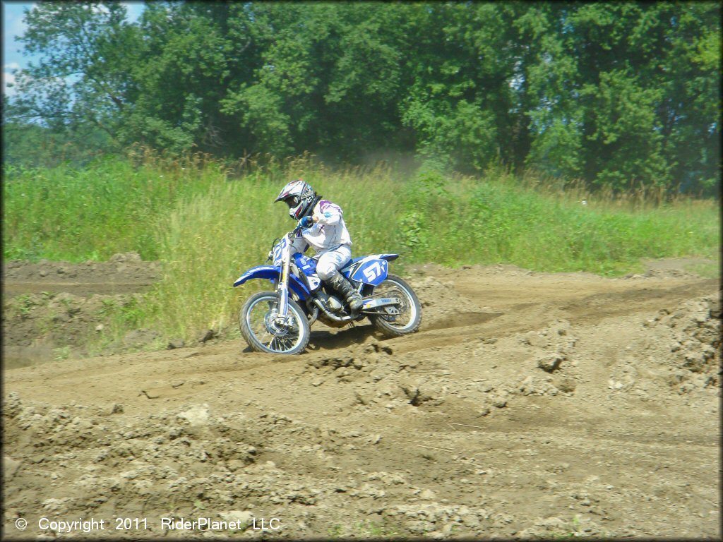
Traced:
<path id="1" fill-rule="evenodd" d="M 25 32 L 25 22 L 23 22 L 23 13 L 35 7 L 37 2 L 25 1 L 2 1 L 2 72 L 3 72 L 3 95 L 12 95 L 13 89 L 7 88 L 7 83 L 14 81 L 12 74 L 14 69 L 24 68 L 30 61 L 37 61 L 37 56 L 24 56 L 22 54 L 22 44 L 15 41 L 15 36 L 22 35 Z M 128 10 L 128 18 L 131 21 L 137 20 L 143 11 L 142 2 L 123 2 Z"/>

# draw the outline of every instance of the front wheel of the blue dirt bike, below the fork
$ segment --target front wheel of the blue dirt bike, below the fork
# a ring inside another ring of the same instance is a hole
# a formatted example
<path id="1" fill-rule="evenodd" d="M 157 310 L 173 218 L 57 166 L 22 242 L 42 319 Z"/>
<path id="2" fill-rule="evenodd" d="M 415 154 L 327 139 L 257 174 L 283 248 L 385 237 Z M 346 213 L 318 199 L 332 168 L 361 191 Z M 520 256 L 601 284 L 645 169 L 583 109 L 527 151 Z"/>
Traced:
<path id="1" fill-rule="evenodd" d="M 301 353 L 311 335 L 307 315 L 291 299 L 286 319 L 279 317 L 275 292 L 254 293 L 241 307 L 239 326 L 251 348 L 271 354 Z"/>

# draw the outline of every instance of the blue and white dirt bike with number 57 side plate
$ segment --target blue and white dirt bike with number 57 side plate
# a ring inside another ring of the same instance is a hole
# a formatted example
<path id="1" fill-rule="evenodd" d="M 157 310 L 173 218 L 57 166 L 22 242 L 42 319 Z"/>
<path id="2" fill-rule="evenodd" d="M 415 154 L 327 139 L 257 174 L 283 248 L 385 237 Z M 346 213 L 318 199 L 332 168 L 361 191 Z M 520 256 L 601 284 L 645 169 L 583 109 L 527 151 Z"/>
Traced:
<path id="1" fill-rule="evenodd" d="M 252 267 L 234 286 L 251 279 L 268 279 L 275 291 L 254 293 L 239 314 L 241 335 L 258 352 L 301 353 L 309 344 L 309 327 L 318 320 L 343 327 L 369 318 L 386 337 L 400 337 L 419 330 L 422 306 L 409 285 L 388 273 L 398 254 L 371 254 L 352 258 L 340 272 L 364 298 L 358 314 L 351 314 L 342 296 L 316 273 L 316 261 L 296 252 L 291 242 L 297 230 L 276 239 L 269 251 L 270 265 Z M 267 260 L 267 261 L 268 261 Z"/>

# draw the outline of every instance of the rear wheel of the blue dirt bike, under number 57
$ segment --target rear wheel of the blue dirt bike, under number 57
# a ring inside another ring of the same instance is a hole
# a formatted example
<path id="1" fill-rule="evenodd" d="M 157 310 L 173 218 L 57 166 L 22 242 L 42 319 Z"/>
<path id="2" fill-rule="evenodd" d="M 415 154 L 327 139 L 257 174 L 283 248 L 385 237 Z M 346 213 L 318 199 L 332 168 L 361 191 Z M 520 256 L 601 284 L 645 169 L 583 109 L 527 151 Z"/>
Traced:
<path id="1" fill-rule="evenodd" d="M 375 314 L 369 316 L 372 324 L 380 330 L 385 337 L 401 337 L 419 330 L 422 324 L 422 305 L 416 293 L 404 280 L 388 275 L 379 285 L 376 285 L 372 297 L 398 297 L 401 304 L 396 307 L 398 314 Z"/>

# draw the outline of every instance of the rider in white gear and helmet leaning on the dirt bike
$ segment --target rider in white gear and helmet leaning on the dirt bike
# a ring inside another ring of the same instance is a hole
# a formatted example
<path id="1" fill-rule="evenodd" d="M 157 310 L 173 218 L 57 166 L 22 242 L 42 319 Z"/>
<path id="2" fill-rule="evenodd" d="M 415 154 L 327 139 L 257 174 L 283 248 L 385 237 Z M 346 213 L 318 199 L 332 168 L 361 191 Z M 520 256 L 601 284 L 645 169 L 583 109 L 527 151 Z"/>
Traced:
<path id="1" fill-rule="evenodd" d="M 351 236 L 342 218 L 341 207 L 321 199 L 307 182 L 297 179 L 281 189 L 275 202 L 288 205 L 288 215 L 299 220 L 294 249 L 304 252 L 310 246 L 316 250 L 319 278 L 346 298 L 352 313 L 361 309 L 363 301 L 358 291 L 339 272 L 351 259 Z"/>

